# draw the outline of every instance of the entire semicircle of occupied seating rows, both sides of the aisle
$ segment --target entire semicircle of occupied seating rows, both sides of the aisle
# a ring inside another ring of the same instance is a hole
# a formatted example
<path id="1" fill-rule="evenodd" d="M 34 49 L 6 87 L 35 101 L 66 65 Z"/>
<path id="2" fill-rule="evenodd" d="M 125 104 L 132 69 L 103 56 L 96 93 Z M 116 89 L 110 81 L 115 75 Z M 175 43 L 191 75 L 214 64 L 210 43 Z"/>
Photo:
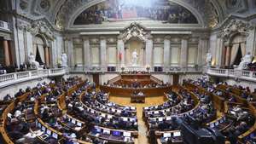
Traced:
<path id="1" fill-rule="evenodd" d="M 108 101 L 90 82 L 69 78 L 38 84 L 5 102 L 0 131 L 5 143 L 134 143 L 137 109 Z M 226 141 L 254 141 L 256 109 L 252 93 L 206 79 L 172 86 L 164 104 L 143 107 L 150 142 L 182 142 L 181 124 L 195 119 L 220 131 Z M 156 139 L 155 139 L 156 138 Z"/>

